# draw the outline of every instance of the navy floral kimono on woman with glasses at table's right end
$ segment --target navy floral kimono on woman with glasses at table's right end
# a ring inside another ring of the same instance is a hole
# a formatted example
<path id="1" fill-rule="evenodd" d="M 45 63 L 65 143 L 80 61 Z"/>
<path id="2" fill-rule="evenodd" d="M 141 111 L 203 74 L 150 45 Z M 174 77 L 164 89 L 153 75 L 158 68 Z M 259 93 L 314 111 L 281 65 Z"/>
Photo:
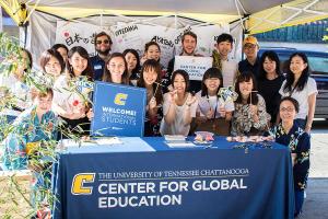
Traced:
<path id="1" fill-rule="evenodd" d="M 294 188 L 303 191 L 306 188 L 309 169 L 309 135 L 295 124 L 288 134 L 280 124 L 272 129 L 272 135 L 276 137 L 276 142 L 288 146 L 291 152 L 296 154 L 293 166 Z"/>

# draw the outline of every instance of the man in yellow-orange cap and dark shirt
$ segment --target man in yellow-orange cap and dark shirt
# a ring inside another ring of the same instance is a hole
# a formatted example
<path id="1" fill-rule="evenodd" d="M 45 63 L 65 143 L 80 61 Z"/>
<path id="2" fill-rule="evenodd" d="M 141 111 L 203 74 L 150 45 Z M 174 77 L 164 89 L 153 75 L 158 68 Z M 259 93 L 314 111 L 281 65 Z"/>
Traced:
<path id="1" fill-rule="evenodd" d="M 247 36 L 243 42 L 243 51 L 246 55 L 246 59 L 239 61 L 238 70 L 241 73 L 250 71 L 255 78 L 258 79 L 260 60 L 257 56 L 259 45 L 255 36 Z"/>

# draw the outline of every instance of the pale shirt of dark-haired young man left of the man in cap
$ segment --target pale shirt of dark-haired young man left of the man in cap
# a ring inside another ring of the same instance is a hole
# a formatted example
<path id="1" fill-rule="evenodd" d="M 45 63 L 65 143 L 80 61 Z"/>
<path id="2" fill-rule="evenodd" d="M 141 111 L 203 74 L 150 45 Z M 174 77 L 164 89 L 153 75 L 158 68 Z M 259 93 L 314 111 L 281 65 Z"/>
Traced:
<path id="1" fill-rule="evenodd" d="M 238 62 L 233 59 L 221 60 L 222 64 L 222 76 L 223 87 L 234 85 L 236 79 Z"/>

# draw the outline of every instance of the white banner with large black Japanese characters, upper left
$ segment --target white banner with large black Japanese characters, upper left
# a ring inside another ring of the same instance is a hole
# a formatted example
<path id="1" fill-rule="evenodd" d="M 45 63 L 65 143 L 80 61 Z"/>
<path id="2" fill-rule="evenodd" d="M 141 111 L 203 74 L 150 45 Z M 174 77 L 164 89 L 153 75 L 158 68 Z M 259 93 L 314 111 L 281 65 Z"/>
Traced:
<path id="1" fill-rule="evenodd" d="M 108 31 L 96 25 L 82 22 L 57 21 L 56 44 L 63 44 L 69 49 L 74 46 L 82 46 L 90 56 L 94 56 L 94 36 L 102 31 L 109 34 Z"/>

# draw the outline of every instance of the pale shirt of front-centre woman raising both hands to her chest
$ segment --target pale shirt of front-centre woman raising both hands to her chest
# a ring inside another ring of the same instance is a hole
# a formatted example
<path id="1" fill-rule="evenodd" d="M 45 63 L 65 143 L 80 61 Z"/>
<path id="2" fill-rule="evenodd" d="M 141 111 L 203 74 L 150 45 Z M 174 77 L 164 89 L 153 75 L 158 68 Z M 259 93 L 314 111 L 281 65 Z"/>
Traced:
<path id="1" fill-rule="evenodd" d="M 164 104 L 163 104 L 163 115 L 164 116 L 167 115 L 169 105 L 173 104 L 168 100 L 169 100 L 169 93 L 165 93 L 164 94 Z M 190 106 L 190 116 L 191 117 L 196 116 L 197 105 L 198 105 L 198 101 L 192 103 Z M 164 135 L 188 136 L 188 132 L 190 129 L 190 124 L 188 124 L 187 126 L 184 125 L 184 115 L 185 115 L 185 112 L 187 111 L 186 107 L 187 107 L 186 102 L 181 106 L 175 105 L 175 110 L 176 110 L 175 111 L 175 119 L 174 119 L 173 124 L 171 124 L 171 125 L 165 123 L 165 118 L 163 116 L 163 119 L 161 123 L 161 128 L 160 128 L 160 132 L 162 136 L 164 136 Z"/>

